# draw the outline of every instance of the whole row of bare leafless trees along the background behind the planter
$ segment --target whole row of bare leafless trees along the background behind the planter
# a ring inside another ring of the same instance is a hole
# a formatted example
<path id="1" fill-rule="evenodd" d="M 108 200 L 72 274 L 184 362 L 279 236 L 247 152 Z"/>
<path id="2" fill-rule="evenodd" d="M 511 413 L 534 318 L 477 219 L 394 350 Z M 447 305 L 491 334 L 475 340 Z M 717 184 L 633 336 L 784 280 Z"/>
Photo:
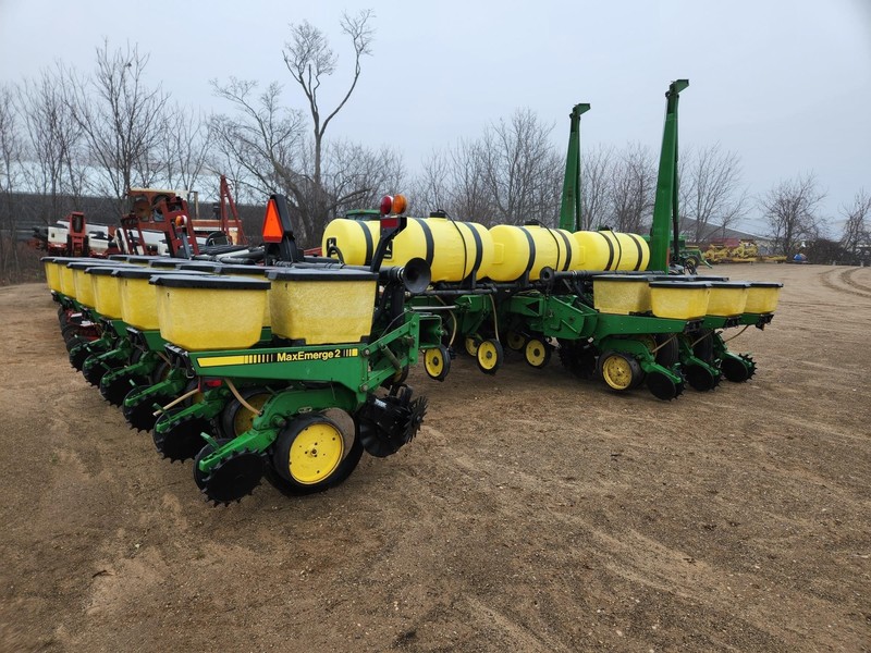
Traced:
<path id="1" fill-rule="evenodd" d="M 330 137 L 339 112 L 353 110 L 373 51 L 373 19 L 370 10 L 342 17 L 353 61 L 342 75 L 320 28 L 290 25 L 281 57 L 302 108 L 289 103 L 278 81 L 236 77 L 211 81 L 221 112 L 183 106 L 149 84 L 148 53 L 136 45 L 112 48 L 108 40 L 96 48 L 89 71 L 58 62 L 35 79 L 0 86 L 0 280 L 21 276 L 26 256 L 15 241 L 23 214 L 16 202 L 26 194 L 45 197 L 37 218 L 49 224 L 78 210 L 85 197 L 108 198 L 121 215 L 130 187 L 197 188 L 217 173 L 232 180 L 237 202 L 286 195 L 306 246 L 319 244 L 331 219 L 400 192 L 413 198 L 417 214 L 442 209 L 487 225 L 555 225 L 565 153 L 554 144 L 555 125 L 530 110 L 496 118 L 477 139 L 431 152 L 417 174 L 392 147 Z M 320 95 L 326 84 L 341 90 L 329 107 Z M 824 193 L 812 173 L 750 198 L 738 155 L 714 145 L 682 150 L 679 177 L 680 212 L 692 219 L 690 241 L 734 227 L 751 210 L 761 214 L 777 252 L 790 256 L 802 243 L 830 236 L 832 217 L 821 213 Z M 646 233 L 655 184 L 657 157 L 640 144 L 585 149 L 584 229 Z M 859 190 L 841 212 L 838 245 L 856 251 L 871 238 L 871 196 Z"/>

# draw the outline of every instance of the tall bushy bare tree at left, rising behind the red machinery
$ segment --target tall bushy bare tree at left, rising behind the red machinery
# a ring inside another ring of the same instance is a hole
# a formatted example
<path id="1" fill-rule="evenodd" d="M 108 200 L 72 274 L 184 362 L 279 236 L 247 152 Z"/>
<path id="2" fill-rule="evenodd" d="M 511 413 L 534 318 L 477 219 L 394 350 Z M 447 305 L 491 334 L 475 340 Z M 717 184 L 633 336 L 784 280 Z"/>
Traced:
<path id="1" fill-rule="evenodd" d="M 148 185 L 160 174 L 155 157 L 165 126 L 168 96 L 145 84 L 148 56 L 138 47 L 97 49 L 97 70 L 88 81 L 73 75 L 74 116 L 88 146 L 90 162 L 100 171 L 97 190 L 118 199 L 119 213 L 131 185 Z"/>

